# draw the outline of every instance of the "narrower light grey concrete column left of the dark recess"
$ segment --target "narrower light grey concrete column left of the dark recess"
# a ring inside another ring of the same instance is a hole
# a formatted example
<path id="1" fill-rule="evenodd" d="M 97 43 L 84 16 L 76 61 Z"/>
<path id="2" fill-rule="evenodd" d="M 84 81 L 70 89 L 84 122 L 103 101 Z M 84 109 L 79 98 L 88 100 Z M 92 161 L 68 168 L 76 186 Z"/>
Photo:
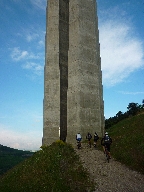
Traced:
<path id="1" fill-rule="evenodd" d="M 60 68 L 59 68 L 59 1 L 48 1 L 46 10 L 43 145 L 59 139 Z"/>

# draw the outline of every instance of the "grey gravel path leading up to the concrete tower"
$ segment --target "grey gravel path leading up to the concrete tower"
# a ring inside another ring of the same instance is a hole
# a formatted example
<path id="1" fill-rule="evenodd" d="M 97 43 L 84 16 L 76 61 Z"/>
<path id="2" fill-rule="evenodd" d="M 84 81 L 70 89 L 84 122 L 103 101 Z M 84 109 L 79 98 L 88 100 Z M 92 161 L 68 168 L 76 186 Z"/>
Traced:
<path id="1" fill-rule="evenodd" d="M 113 158 L 107 163 L 103 152 L 88 148 L 86 144 L 76 152 L 97 183 L 95 192 L 144 192 L 144 175 L 130 170 Z"/>

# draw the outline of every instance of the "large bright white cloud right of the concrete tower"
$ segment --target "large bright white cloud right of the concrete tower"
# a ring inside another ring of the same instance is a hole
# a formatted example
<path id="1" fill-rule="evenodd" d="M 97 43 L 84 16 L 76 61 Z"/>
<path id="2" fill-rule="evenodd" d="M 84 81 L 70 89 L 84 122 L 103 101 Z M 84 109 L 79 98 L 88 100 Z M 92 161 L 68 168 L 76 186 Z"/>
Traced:
<path id="1" fill-rule="evenodd" d="M 103 84 L 106 86 L 122 82 L 144 65 L 142 40 L 133 34 L 130 23 L 114 19 L 101 21 L 99 25 Z"/>

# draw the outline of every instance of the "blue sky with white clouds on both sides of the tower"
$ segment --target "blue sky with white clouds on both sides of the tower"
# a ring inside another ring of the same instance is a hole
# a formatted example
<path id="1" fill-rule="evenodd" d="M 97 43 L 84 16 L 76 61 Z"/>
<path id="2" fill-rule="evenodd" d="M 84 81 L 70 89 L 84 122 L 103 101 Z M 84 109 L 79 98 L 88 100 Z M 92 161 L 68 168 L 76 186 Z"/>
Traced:
<path id="1" fill-rule="evenodd" d="M 144 1 L 97 0 L 105 117 L 144 99 Z M 46 0 L 0 0 L 0 144 L 37 150 L 43 132 Z"/>

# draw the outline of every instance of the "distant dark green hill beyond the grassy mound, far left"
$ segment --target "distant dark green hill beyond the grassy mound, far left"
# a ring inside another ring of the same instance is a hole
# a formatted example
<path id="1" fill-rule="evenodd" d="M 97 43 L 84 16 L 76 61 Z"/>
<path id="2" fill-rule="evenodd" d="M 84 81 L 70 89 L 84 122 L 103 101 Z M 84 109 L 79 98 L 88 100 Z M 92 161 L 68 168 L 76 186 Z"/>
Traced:
<path id="1" fill-rule="evenodd" d="M 0 175 L 32 155 L 33 152 L 13 149 L 0 144 Z"/>

